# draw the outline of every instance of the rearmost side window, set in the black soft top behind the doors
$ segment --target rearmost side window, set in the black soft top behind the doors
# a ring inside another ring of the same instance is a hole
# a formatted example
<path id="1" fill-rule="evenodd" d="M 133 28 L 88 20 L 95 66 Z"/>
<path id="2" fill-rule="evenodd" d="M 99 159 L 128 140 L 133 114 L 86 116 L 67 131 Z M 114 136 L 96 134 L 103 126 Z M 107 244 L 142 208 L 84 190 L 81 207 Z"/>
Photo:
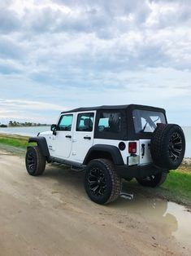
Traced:
<path id="1" fill-rule="evenodd" d="M 102 112 L 98 120 L 99 132 L 119 133 L 121 130 L 121 113 L 119 112 Z"/>

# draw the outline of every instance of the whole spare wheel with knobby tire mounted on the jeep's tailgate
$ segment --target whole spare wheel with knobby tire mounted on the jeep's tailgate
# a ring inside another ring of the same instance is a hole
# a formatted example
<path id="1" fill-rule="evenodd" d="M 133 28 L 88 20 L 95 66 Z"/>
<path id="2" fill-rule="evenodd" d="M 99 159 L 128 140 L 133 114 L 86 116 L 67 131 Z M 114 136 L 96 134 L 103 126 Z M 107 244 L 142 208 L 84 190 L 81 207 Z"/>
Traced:
<path id="1" fill-rule="evenodd" d="M 180 166 L 185 152 L 184 132 L 175 124 L 158 124 L 150 142 L 151 157 L 156 166 L 175 170 Z"/>

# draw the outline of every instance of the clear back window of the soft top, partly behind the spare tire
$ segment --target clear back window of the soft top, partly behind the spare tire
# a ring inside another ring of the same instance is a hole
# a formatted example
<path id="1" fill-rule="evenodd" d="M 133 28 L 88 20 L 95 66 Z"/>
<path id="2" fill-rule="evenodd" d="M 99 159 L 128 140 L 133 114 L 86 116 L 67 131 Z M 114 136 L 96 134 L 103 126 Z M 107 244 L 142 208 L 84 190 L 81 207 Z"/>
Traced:
<path id="1" fill-rule="evenodd" d="M 134 109 L 132 117 L 136 133 L 153 132 L 158 123 L 166 123 L 163 113 Z"/>

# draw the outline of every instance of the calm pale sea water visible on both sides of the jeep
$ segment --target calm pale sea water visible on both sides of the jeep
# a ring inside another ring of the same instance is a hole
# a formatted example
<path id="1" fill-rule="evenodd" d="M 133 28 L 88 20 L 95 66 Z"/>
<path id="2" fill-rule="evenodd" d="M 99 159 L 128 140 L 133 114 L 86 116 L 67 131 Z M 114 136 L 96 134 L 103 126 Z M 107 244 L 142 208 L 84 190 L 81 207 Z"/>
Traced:
<path id="1" fill-rule="evenodd" d="M 191 126 L 182 127 L 184 130 L 186 149 L 184 157 L 191 157 Z M 8 127 L 0 128 L 0 133 L 11 135 L 36 136 L 38 132 L 50 130 L 50 126 L 33 126 L 33 127 Z"/>

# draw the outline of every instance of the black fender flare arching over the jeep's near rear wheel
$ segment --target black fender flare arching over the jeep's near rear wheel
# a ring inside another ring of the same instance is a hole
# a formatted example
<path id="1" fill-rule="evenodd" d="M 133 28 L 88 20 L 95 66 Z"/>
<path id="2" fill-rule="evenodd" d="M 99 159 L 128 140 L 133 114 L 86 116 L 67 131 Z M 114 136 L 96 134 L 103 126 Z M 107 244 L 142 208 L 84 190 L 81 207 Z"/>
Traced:
<path id="1" fill-rule="evenodd" d="M 124 165 L 124 160 L 121 156 L 119 148 L 117 148 L 116 146 L 105 145 L 105 144 L 97 144 L 97 145 L 94 145 L 92 148 L 89 148 L 89 151 L 87 152 L 87 154 L 85 156 L 83 165 L 88 164 L 89 158 L 93 152 L 108 152 L 111 154 L 112 160 L 116 166 Z"/>

